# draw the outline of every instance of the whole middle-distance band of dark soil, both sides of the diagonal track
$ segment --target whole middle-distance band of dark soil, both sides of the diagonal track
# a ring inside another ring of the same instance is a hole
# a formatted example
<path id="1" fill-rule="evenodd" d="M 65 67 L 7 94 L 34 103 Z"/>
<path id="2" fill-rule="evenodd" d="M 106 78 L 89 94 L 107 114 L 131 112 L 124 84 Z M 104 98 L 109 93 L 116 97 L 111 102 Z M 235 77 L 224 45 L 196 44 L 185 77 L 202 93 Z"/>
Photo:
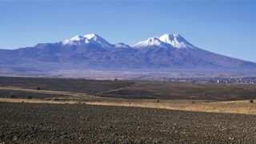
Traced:
<path id="1" fill-rule="evenodd" d="M 198 84 L 188 82 L 99 81 L 65 78 L 0 77 L 0 86 L 18 86 L 32 90 L 39 88 L 40 90 L 69 91 L 110 98 L 190 99 L 212 101 L 256 99 L 256 85 L 254 84 Z M 5 92 L 0 90 L 0 94 L 1 93 Z M 16 95 L 17 97 L 27 97 L 26 94 L 22 94 L 25 96 Z M 33 97 L 41 98 L 49 97 L 49 95 L 42 96 L 42 94 L 34 94 Z"/>

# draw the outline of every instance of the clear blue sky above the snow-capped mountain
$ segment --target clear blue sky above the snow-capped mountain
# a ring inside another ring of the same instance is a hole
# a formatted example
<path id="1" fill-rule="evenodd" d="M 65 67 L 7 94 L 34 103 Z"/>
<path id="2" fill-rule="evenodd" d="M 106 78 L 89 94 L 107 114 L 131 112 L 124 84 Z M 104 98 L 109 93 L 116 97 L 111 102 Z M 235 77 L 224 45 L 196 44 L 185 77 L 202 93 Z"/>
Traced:
<path id="1" fill-rule="evenodd" d="M 256 1 L 0 0 L 0 49 L 89 33 L 127 44 L 181 34 L 204 50 L 256 62 Z"/>

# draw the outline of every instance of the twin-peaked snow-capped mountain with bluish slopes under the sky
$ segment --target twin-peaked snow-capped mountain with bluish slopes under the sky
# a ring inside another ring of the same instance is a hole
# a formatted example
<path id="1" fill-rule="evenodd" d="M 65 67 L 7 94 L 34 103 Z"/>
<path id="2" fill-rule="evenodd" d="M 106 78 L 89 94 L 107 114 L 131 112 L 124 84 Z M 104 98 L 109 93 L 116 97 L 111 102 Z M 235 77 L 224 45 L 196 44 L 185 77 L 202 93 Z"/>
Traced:
<path id="1" fill-rule="evenodd" d="M 202 50 L 179 34 L 163 34 L 129 46 L 111 44 L 97 34 L 39 43 L 17 50 L 0 50 L 0 69 L 33 70 L 256 70 L 256 63 Z"/>

